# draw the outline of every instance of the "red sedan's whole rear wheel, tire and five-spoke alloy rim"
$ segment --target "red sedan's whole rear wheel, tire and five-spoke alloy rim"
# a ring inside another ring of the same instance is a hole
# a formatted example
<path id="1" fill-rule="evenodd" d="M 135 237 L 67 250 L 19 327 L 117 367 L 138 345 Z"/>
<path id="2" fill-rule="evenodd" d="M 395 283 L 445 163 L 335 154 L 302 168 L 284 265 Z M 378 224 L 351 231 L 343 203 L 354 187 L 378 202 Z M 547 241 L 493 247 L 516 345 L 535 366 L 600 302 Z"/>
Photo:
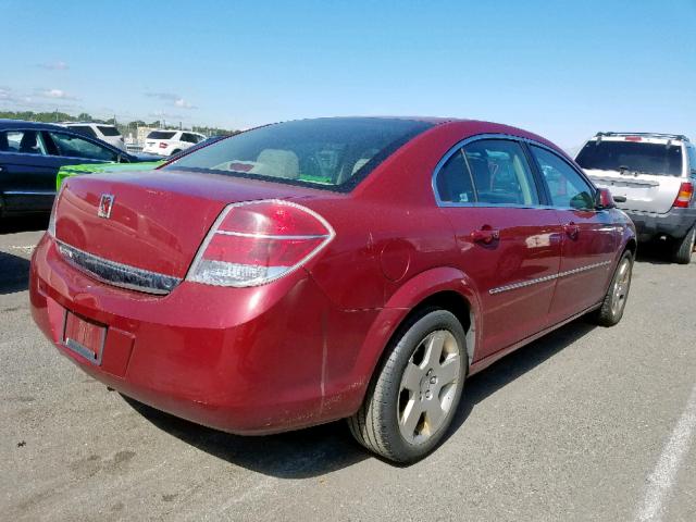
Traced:
<path id="1" fill-rule="evenodd" d="M 406 323 L 389 349 L 348 424 L 365 448 L 412 462 L 437 446 L 455 417 L 469 362 L 465 334 L 452 313 L 431 308 Z"/>

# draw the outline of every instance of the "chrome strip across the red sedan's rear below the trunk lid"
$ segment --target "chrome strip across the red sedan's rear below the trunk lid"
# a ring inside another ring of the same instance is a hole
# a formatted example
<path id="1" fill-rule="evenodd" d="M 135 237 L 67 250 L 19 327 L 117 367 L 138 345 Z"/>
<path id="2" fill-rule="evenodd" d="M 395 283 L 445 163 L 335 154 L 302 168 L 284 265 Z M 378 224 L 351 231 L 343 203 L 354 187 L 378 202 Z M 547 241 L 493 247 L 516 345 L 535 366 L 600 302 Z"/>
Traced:
<path id="1" fill-rule="evenodd" d="M 55 245 L 61 256 L 73 266 L 109 285 L 146 294 L 166 295 L 182 282 L 179 277 L 109 261 L 58 239 Z"/>

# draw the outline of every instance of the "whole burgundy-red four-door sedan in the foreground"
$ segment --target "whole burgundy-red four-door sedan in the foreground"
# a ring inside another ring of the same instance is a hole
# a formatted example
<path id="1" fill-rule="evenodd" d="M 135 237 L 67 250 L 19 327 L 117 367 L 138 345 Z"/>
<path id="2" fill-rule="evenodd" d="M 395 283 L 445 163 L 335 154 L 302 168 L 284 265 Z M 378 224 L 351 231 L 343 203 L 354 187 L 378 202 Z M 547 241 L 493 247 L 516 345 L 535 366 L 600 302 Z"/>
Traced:
<path id="1" fill-rule="evenodd" d="M 348 418 L 413 461 L 464 380 L 583 314 L 623 314 L 631 221 L 558 147 L 494 123 L 302 120 L 149 173 L 69 179 L 34 319 L 122 394 L 265 434 Z"/>

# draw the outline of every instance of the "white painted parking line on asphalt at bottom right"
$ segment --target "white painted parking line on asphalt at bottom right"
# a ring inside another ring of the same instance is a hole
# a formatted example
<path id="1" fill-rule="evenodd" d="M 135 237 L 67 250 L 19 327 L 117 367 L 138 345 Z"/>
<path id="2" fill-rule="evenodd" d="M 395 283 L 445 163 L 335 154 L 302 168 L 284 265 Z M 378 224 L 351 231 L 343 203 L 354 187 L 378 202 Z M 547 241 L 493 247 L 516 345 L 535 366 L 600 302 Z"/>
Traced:
<path id="1" fill-rule="evenodd" d="M 664 445 L 660 460 L 648 476 L 647 490 L 636 520 L 659 522 L 662 520 L 663 502 L 674 485 L 676 473 L 688 451 L 696 427 L 696 386 L 692 389 L 686 408 L 682 413 L 672 436 Z"/>

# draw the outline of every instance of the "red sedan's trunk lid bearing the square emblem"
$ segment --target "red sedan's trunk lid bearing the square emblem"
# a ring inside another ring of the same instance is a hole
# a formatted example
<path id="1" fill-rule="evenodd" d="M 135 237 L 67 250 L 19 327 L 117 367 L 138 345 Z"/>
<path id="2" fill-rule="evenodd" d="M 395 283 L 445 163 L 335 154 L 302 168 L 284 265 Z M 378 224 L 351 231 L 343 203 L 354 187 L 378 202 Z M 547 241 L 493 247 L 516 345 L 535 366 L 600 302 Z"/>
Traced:
<path id="1" fill-rule="evenodd" d="M 75 260 L 86 253 L 181 279 L 225 206 L 303 192 L 313 190 L 171 170 L 80 176 L 61 192 L 55 238 L 77 251 Z"/>

